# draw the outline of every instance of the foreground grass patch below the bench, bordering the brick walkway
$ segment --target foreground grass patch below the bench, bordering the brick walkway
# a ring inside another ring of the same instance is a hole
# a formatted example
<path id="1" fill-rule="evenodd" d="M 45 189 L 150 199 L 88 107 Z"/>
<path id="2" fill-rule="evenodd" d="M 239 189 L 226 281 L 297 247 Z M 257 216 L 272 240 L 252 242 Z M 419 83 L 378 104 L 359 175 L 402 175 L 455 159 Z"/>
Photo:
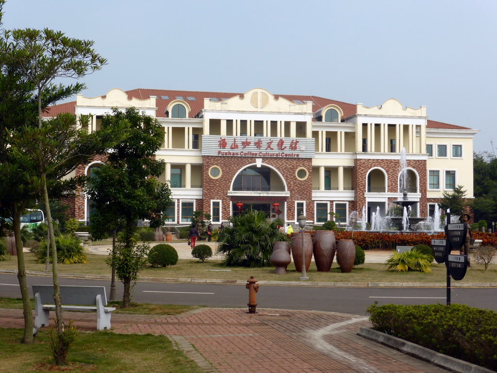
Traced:
<path id="1" fill-rule="evenodd" d="M 68 366 L 53 365 L 48 330 L 22 344 L 22 329 L 0 328 L 2 372 L 201 373 L 198 366 L 161 335 L 79 332 Z"/>

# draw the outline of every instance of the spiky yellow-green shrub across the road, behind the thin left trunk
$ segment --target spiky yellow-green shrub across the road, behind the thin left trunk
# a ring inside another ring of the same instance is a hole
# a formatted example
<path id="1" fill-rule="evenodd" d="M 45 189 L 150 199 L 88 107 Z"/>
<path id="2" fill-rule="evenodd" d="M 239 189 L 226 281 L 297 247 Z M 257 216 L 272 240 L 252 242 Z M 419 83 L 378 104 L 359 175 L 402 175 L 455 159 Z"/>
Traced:
<path id="1" fill-rule="evenodd" d="M 88 263 L 88 258 L 86 258 L 85 250 L 79 238 L 73 235 L 68 235 L 67 237 L 57 236 L 55 237 L 55 246 L 57 247 L 57 263 Z M 38 263 L 46 262 L 47 240 L 41 241 L 35 254 Z M 52 263 L 52 255 L 50 255 L 50 263 Z"/>

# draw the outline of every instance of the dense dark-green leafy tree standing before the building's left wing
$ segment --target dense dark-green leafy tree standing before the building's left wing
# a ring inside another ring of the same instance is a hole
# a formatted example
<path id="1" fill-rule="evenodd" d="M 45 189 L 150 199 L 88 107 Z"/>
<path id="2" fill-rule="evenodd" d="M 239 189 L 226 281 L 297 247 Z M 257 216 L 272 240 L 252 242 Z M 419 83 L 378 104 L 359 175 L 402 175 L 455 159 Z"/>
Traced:
<path id="1" fill-rule="evenodd" d="M 113 109 L 113 115 L 102 118 L 101 128 L 116 123 L 128 126 L 129 136 L 117 143 L 108 154 L 106 162 L 94 170 L 94 177 L 86 185 L 88 197 L 95 209 L 91 216 L 93 238 L 106 237 L 121 224 L 119 250 L 115 240 L 110 254 L 110 265 L 124 284 L 123 307 L 131 299 L 131 282 L 136 280 L 134 266 L 127 257 L 136 257 L 137 247 L 133 238 L 138 219 L 150 220 L 152 228 L 164 224 L 164 211 L 172 203 L 168 185 L 156 178 L 164 172 L 164 161 L 155 159 L 155 153 L 163 141 L 161 124 L 157 119 L 140 113 L 134 107 L 124 112 Z M 115 237 L 115 233 L 113 234 Z M 138 254 L 141 250 L 138 248 Z"/>

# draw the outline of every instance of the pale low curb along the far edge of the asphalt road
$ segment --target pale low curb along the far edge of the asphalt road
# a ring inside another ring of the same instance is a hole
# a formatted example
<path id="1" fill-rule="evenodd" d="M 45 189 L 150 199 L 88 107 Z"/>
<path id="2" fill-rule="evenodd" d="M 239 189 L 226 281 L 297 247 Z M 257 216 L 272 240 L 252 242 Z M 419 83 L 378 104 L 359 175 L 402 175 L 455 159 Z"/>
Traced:
<path id="1" fill-rule="evenodd" d="M 17 274 L 17 270 L 2 270 L 0 273 Z M 52 276 L 52 272 L 26 271 L 26 275 Z M 75 279 L 110 280 L 110 275 L 84 275 L 59 273 L 61 277 L 72 277 Z M 140 282 L 192 282 L 192 283 L 227 283 L 245 285 L 244 280 L 219 280 L 219 279 L 169 279 L 158 277 L 141 277 Z M 313 281 L 257 281 L 259 285 L 279 286 L 328 286 L 328 287 L 446 287 L 445 282 L 313 282 Z M 497 287 L 497 282 L 463 282 L 452 283 L 451 287 Z"/>

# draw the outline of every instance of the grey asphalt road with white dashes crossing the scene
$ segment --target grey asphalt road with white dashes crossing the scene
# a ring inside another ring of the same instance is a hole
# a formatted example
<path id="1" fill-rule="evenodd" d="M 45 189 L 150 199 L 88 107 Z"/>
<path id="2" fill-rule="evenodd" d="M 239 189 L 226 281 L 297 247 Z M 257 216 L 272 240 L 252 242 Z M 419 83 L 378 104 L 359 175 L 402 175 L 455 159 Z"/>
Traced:
<path id="1" fill-rule="evenodd" d="M 51 284 L 51 277 L 28 276 L 28 284 Z M 60 278 L 61 285 L 100 285 L 109 291 L 108 280 Z M 30 288 L 31 291 L 31 288 Z M 117 296 L 122 284 L 117 282 Z M 451 302 L 497 311 L 497 288 L 451 289 Z M 431 287 L 328 287 L 260 285 L 257 304 L 262 308 L 319 310 L 364 315 L 366 307 L 378 304 L 446 303 L 446 288 Z M 31 294 L 32 295 L 32 294 Z M 0 274 L 0 296 L 20 297 L 16 275 Z M 137 282 L 132 300 L 143 303 L 246 307 L 248 290 L 244 285 L 212 283 Z"/>

